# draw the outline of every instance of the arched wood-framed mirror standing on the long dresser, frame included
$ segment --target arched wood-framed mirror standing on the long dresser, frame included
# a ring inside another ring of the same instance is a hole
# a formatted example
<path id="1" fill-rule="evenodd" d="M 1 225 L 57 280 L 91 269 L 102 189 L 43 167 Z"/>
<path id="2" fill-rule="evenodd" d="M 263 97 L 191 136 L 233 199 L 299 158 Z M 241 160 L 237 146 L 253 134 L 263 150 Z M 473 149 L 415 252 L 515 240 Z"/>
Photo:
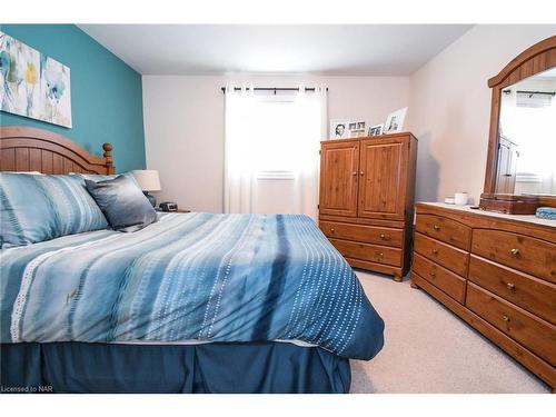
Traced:
<path id="1" fill-rule="evenodd" d="M 556 206 L 556 36 L 488 80 L 493 88 L 485 192 Z"/>

